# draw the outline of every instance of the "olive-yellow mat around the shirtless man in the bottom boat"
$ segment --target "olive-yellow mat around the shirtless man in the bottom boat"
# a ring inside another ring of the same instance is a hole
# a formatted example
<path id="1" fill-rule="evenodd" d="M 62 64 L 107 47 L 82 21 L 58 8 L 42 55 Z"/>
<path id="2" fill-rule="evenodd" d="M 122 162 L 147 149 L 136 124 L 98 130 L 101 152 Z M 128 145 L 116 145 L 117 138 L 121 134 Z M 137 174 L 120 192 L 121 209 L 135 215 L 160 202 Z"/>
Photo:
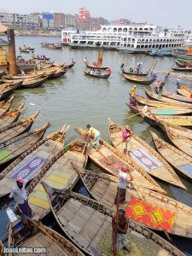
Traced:
<path id="1" fill-rule="evenodd" d="M 144 236 L 141 236 L 137 232 L 131 230 L 127 233 L 127 245 L 131 247 L 131 253 L 125 253 L 123 250 L 119 250 L 118 255 L 131 255 L 131 256 L 157 256 L 160 252 L 160 247 L 154 242 L 147 240 Z M 112 227 L 108 225 L 108 229 L 102 235 L 102 238 L 98 242 L 96 249 L 104 255 L 111 256 L 112 252 Z M 100 255 L 100 254 L 98 254 Z"/>

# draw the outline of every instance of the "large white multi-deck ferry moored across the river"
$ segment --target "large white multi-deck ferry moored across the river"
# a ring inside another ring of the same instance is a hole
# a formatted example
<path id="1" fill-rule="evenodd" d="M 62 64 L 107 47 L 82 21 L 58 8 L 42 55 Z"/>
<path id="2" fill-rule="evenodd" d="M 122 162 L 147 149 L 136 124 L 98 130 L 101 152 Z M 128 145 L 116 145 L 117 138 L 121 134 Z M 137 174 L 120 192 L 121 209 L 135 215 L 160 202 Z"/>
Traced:
<path id="1" fill-rule="evenodd" d="M 61 42 L 80 49 L 118 49 L 125 53 L 144 53 L 151 49 L 175 49 L 191 37 L 191 31 L 183 29 L 160 30 L 157 26 L 129 25 L 102 26 L 98 31 L 79 32 L 63 30 Z"/>

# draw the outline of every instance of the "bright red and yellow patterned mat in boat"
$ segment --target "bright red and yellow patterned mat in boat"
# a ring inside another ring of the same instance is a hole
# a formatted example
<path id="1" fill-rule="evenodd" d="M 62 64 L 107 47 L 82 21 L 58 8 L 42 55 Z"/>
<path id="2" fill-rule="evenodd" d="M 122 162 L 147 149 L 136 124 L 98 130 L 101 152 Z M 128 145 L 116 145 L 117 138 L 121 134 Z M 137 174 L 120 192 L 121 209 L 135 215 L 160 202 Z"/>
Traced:
<path id="1" fill-rule="evenodd" d="M 167 232 L 172 232 L 172 227 L 175 221 L 174 212 L 147 204 L 145 201 L 139 200 L 134 196 L 131 197 L 131 201 L 125 210 L 125 214 L 127 217 L 136 219 L 138 222 L 146 224 L 155 230 L 162 230 L 161 227 L 163 227 Z"/>

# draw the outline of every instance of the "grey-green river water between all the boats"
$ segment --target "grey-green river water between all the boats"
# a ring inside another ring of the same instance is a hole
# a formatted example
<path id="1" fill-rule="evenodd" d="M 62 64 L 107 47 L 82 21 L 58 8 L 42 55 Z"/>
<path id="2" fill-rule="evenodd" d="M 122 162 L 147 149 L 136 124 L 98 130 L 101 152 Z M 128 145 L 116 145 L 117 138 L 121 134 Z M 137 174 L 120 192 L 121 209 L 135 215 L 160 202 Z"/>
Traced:
<path id="1" fill-rule="evenodd" d="M 3 38 L 3 37 L 2 37 Z M 6 38 L 5 38 L 6 39 Z M 161 131 L 155 130 L 143 121 L 141 117 L 135 116 L 127 121 L 124 119 L 133 115 L 125 106 L 129 99 L 129 92 L 133 84 L 127 82 L 120 74 L 119 67 L 122 61 L 127 67 L 136 67 L 138 61 L 143 62 L 143 71 L 148 70 L 156 58 L 147 55 L 126 55 L 117 51 L 105 51 L 103 55 L 103 65 L 112 68 L 112 75 L 109 79 L 92 79 L 84 75 L 84 56 L 87 55 L 89 61 L 96 61 L 98 52 L 89 49 L 70 49 L 64 47 L 62 50 L 41 48 L 41 42 L 60 42 L 61 38 L 32 38 L 15 37 L 17 55 L 20 55 L 19 47 L 23 44 L 35 48 L 34 54 L 46 55 L 55 62 L 69 63 L 73 58 L 77 64 L 61 78 L 48 80 L 40 88 L 28 90 L 16 90 L 15 99 L 12 107 L 17 107 L 19 102 L 26 104 L 26 111 L 22 115 L 28 115 L 38 110 L 41 111 L 40 118 L 34 123 L 33 127 L 43 125 L 48 120 L 51 123 L 46 135 L 61 128 L 63 124 L 69 124 L 70 130 L 67 131 L 67 143 L 77 137 L 74 128 L 78 125 L 85 126 L 91 124 L 101 131 L 102 138 L 109 142 L 108 137 L 108 117 L 112 118 L 119 125 L 130 125 L 132 131 L 142 137 L 147 143 L 151 143 L 149 131 L 155 131 L 160 137 L 164 137 Z M 25 59 L 30 55 L 22 54 Z M 156 64 L 156 70 L 168 71 L 174 60 L 169 57 L 161 57 Z M 159 76 L 159 79 L 163 79 Z M 176 80 L 169 79 L 166 89 L 176 92 Z M 186 81 L 186 84 L 190 84 Z M 146 85 L 148 87 L 148 85 Z M 144 85 L 137 84 L 137 94 L 145 96 Z M 45 135 L 45 136 L 46 136 Z M 88 163 L 87 168 L 98 170 L 99 168 Z M 192 207 L 192 188 L 191 183 L 181 177 L 188 192 L 174 188 L 165 183 L 160 185 L 166 189 L 167 195 L 176 198 Z M 3 207 L 4 200 L 0 201 Z M 1 208 L 0 208 L 1 209 Z M 4 210 L 0 210 L 0 236 L 3 236 L 7 216 Z M 177 247 L 183 252 L 192 255 L 192 245 L 188 239 L 174 239 Z"/>

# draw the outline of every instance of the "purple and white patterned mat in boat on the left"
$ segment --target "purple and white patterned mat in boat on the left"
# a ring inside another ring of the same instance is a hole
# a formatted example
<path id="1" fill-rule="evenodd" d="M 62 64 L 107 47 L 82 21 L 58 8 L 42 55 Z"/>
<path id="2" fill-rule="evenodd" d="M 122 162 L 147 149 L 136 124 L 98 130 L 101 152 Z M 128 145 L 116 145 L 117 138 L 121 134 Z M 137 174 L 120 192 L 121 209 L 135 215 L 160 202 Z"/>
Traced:
<path id="1" fill-rule="evenodd" d="M 16 166 L 12 172 L 9 172 L 7 177 L 13 180 L 17 179 L 18 177 L 22 177 L 27 179 L 27 181 L 30 181 L 44 165 L 44 163 L 44 159 L 36 155 L 32 155 L 24 160 L 19 166 Z"/>

